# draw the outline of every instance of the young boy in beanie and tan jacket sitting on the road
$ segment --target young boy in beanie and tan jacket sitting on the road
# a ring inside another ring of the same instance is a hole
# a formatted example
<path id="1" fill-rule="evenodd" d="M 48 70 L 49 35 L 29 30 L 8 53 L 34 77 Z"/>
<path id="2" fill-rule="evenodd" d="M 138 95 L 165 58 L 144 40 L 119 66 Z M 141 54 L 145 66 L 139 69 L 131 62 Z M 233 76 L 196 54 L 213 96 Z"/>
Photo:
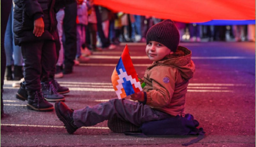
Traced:
<path id="1" fill-rule="evenodd" d="M 148 30 L 146 53 L 154 63 L 145 72 L 143 91 L 131 95 L 131 100 L 139 102 L 111 99 L 75 111 L 63 102 L 56 102 L 56 114 L 67 132 L 72 134 L 79 127 L 104 120 L 109 120 L 109 128 L 117 133 L 138 131 L 145 122 L 185 116 L 187 86 L 195 65 L 191 51 L 178 47 L 179 38 L 179 31 L 171 20 L 157 23 Z"/>

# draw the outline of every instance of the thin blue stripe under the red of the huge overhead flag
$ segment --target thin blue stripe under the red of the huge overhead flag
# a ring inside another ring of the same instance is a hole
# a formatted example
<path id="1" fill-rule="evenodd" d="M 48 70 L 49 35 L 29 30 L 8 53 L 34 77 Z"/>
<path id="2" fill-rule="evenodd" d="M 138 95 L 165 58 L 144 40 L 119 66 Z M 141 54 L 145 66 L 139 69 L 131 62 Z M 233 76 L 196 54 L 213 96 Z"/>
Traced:
<path id="1" fill-rule="evenodd" d="M 203 23 L 196 23 L 200 25 L 247 25 L 255 24 L 255 20 L 212 20 Z"/>

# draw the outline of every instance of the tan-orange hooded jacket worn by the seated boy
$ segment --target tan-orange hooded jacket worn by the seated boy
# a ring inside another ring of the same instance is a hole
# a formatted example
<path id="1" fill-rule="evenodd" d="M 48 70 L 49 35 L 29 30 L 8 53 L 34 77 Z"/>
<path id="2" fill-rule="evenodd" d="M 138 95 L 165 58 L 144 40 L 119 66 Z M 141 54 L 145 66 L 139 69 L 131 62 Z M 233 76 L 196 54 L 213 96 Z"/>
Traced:
<path id="1" fill-rule="evenodd" d="M 179 46 L 173 55 L 154 62 L 144 75 L 146 104 L 173 116 L 184 116 L 188 80 L 194 72 L 191 51 L 185 47 Z"/>

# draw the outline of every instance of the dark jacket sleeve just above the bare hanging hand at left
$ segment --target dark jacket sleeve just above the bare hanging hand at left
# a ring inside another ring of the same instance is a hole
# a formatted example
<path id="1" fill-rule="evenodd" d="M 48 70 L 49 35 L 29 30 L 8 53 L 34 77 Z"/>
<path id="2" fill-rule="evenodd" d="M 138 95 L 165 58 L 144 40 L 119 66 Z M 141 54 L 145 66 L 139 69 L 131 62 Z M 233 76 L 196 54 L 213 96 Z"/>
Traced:
<path id="1" fill-rule="evenodd" d="M 44 16 L 41 5 L 38 3 L 37 0 L 22 0 L 21 2 L 24 11 L 29 16 L 30 19 L 36 20 Z"/>

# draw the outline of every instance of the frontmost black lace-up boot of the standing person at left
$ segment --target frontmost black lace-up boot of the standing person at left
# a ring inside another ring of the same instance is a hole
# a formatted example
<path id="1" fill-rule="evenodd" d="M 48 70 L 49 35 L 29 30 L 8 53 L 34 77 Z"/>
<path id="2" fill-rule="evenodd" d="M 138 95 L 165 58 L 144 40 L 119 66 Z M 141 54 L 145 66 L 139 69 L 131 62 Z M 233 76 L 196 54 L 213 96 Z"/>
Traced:
<path id="1" fill-rule="evenodd" d="M 28 103 L 27 108 L 29 110 L 36 110 L 36 111 L 52 111 L 53 105 L 47 102 L 44 97 L 43 93 L 38 91 L 29 91 L 28 92 Z"/>

